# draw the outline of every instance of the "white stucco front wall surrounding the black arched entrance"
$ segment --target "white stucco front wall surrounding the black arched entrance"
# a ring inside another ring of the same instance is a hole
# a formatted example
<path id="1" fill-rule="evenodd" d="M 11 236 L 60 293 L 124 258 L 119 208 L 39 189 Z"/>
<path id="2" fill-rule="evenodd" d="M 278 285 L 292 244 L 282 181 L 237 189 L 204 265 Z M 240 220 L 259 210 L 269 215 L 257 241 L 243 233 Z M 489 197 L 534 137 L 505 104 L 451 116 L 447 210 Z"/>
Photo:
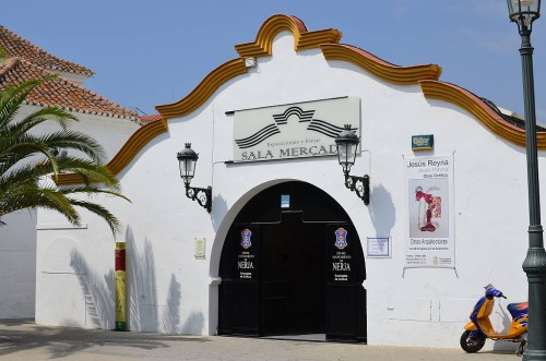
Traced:
<path id="1" fill-rule="evenodd" d="M 281 33 L 273 57 L 259 58 L 258 68 L 228 81 L 193 113 L 169 120 L 168 133 L 147 144 L 119 175 L 132 203 L 103 200 L 124 224 L 119 240 L 128 242 L 130 329 L 214 334 L 219 255 L 234 217 L 266 186 L 301 180 L 343 206 L 364 249 L 367 237 L 392 238 L 391 258 L 366 258 L 368 344 L 459 347 L 483 286 L 498 286 L 509 301 L 526 298 L 521 268 L 527 245 L 524 148 L 498 139 L 466 111 L 425 98 L 418 85 L 392 85 L 356 65 L 327 62 L 320 50 L 296 53 L 293 45 L 292 34 Z M 233 116 L 226 111 L 342 96 L 361 99 L 366 152 L 352 173 L 371 177 L 368 207 L 343 185 L 335 157 L 226 164 L 233 159 Z M 414 154 L 415 134 L 435 134 L 435 151 Z M 200 154 L 192 185 L 213 188 L 212 214 L 185 195 L 176 153 L 186 142 Z M 451 154 L 456 269 L 404 272 L 402 157 Z M 539 153 L 542 168 L 545 156 Z M 112 323 L 115 240 L 96 217 L 84 215 L 83 221 L 84 229 L 38 231 L 37 323 Z M 38 224 L 60 222 L 54 214 L 38 214 Z M 193 256 L 195 238 L 206 239 L 205 260 Z M 58 255 L 55 262 L 51 254 Z M 497 324 L 502 325 L 500 316 Z"/>

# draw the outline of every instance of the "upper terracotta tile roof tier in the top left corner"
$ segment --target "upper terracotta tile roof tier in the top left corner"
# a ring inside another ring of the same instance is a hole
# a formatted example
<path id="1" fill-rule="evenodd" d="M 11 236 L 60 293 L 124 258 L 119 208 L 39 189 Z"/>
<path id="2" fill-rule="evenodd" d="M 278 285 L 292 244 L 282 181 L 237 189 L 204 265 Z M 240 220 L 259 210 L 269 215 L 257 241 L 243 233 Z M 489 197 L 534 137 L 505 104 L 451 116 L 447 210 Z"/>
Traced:
<path id="1" fill-rule="evenodd" d="M 94 74 L 93 71 L 83 65 L 50 55 L 2 25 L 0 25 L 0 47 L 7 52 L 7 58 L 21 57 L 44 69 L 86 76 Z"/>

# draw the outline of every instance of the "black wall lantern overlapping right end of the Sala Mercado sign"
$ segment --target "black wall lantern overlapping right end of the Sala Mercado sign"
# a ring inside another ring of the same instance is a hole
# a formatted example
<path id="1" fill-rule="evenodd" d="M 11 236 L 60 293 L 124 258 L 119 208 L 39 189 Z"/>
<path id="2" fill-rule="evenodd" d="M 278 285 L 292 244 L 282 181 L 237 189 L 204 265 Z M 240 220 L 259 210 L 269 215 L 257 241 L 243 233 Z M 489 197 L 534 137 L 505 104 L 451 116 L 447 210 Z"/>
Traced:
<path id="1" fill-rule="evenodd" d="M 345 129 L 335 137 L 335 146 L 337 147 L 337 158 L 345 175 L 345 186 L 354 191 L 356 195 L 364 201 L 364 204 L 370 204 L 370 177 L 351 176 L 351 167 L 355 164 L 356 151 L 360 139 L 349 124 L 345 124 Z"/>

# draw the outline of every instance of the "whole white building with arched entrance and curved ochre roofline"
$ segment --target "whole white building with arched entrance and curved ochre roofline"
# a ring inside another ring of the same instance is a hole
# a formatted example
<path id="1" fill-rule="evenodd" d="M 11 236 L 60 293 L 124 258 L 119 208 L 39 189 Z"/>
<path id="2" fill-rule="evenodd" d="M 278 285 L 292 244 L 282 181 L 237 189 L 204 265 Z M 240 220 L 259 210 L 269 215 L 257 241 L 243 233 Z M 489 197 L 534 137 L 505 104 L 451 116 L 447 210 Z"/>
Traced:
<path id="1" fill-rule="evenodd" d="M 459 347 L 483 286 L 524 300 L 517 119 L 441 82 L 438 65 L 393 65 L 340 39 L 272 16 L 239 58 L 158 106 L 164 120 L 110 165 L 132 201 L 102 201 L 124 224 L 120 239 L 91 215 L 73 229 L 39 212 L 36 322 L 112 327 L 115 241 L 127 242 L 135 332 Z M 368 206 L 344 185 L 343 124 L 360 136 L 351 175 L 369 175 Z M 185 195 L 185 143 L 211 213 Z M 546 133 L 538 146 L 544 167 Z"/>

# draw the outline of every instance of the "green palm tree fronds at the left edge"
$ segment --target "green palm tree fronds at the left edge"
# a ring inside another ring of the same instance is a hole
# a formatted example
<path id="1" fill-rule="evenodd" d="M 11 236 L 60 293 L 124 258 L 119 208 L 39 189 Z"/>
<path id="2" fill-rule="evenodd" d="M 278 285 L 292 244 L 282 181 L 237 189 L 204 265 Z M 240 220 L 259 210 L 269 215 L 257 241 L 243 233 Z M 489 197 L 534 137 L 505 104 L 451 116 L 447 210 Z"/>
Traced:
<path id="1" fill-rule="evenodd" d="M 103 165 L 103 147 L 86 134 L 67 130 L 67 124 L 78 119 L 62 109 L 41 108 L 17 119 L 26 97 L 49 79 L 26 81 L 0 92 L 0 226 L 4 225 L 3 215 L 24 208 L 54 209 L 78 226 L 76 208 L 81 207 L 102 217 L 116 234 L 119 220 L 84 196 L 106 193 L 127 200 L 119 181 Z M 48 120 L 57 121 L 61 130 L 38 133 L 36 127 Z M 79 175 L 82 184 L 56 186 L 51 179 L 61 172 Z"/>

